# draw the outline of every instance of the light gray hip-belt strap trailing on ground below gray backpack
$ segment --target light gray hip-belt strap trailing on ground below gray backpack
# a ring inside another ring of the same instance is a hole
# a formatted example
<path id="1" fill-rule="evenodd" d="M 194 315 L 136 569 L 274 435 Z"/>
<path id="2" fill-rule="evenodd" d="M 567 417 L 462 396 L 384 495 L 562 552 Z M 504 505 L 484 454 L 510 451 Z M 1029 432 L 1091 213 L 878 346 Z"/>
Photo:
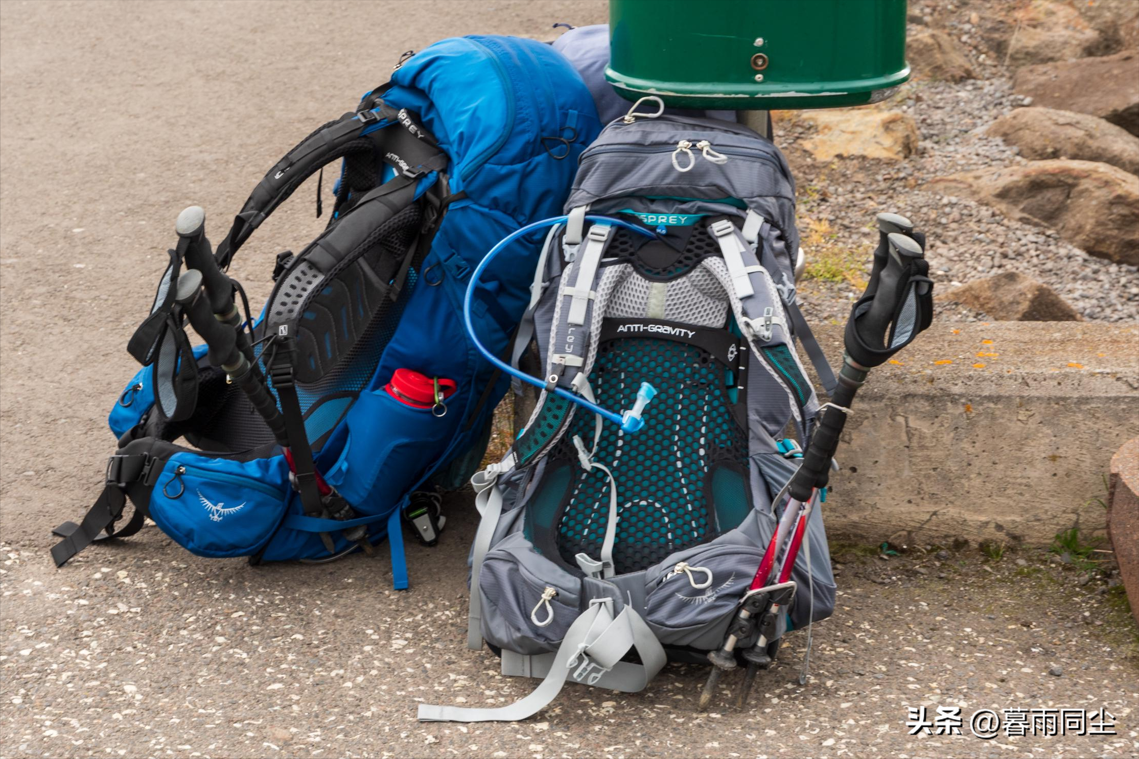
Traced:
<path id="1" fill-rule="evenodd" d="M 636 649 L 641 665 L 630 665 L 616 670 L 621 658 L 629 649 Z M 503 653 L 506 653 L 503 651 Z M 531 671 L 546 669 L 546 678 L 527 696 L 508 707 L 495 709 L 465 709 L 458 707 L 439 707 L 427 703 L 419 704 L 420 721 L 516 721 L 526 719 L 546 708 L 558 693 L 566 680 L 600 685 L 603 677 L 617 671 L 611 680 L 618 680 L 628 692 L 644 690 L 661 668 L 666 655 L 653 630 L 640 616 L 625 605 L 620 614 L 613 617 L 612 599 L 595 599 L 589 609 L 581 613 L 566 632 L 562 645 L 552 660 L 547 665 L 530 662 Z M 502 660 L 506 674 L 507 660 Z M 510 662 L 511 668 L 517 661 Z M 633 671 L 630 671 L 633 668 Z M 639 673 L 636 670 L 640 670 Z"/>

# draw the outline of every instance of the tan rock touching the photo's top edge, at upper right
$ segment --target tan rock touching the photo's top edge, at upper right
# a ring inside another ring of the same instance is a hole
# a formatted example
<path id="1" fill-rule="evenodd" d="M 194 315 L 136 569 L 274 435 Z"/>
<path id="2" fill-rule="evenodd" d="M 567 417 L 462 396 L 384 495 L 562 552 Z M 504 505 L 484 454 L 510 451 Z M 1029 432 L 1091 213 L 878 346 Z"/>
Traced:
<path id="1" fill-rule="evenodd" d="M 1000 51 L 1014 66 L 1071 60 L 1104 51 L 1100 33 L 1070 5 L 1032 0 L 1015 16 L 1016 28 Z"/>

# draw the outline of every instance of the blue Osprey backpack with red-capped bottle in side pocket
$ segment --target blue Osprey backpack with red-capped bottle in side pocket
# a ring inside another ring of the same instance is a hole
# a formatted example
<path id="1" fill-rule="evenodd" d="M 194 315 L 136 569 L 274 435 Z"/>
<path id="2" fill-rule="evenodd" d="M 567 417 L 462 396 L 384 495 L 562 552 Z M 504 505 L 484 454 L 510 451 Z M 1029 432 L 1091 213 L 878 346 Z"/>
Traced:
<path id="1" fill-rule="evenodd" d="M 55 530 L 57 566 L 149 517 L 192 553 L 252 562 L 371 552 L 386 535 L 407 587 L 401 519 L 428 541 L 440 527 L 437 504 L 411 495 L 433 476 L 466 479 L 509 385 L 464 331 L 467 280 L 494 242 L 558 213 L 599 131 L 589 90 L 550 46 L 453 38 L 289 151 L 216 250 L 204 212 L 182 212 L 128 345 L 144 368 L 110 412 L 118 449 L 83 522 Z M 337 159 L 328 226 L 278 255 L 252 319 L 226 267 Z M 500 256 L 474 294 L 477 332 L 499 354 L 528 302 L 533 248 Z M 206 345 L 191 347 L 187 321 Z"/>

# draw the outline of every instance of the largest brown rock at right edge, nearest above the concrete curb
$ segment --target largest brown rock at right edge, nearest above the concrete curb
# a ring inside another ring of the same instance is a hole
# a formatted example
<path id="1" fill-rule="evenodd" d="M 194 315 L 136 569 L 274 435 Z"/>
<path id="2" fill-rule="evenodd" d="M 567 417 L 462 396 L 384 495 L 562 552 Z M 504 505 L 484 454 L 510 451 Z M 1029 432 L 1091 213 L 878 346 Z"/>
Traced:
<path id="1" fill-rule="evenodd" d="M 925 189 L 986 203 L 1018 221 L 1051 226 L 1093 256 L 1139 265 L 1139 176 L 1122 168 L 1033 160 L 942 176 Z"/>

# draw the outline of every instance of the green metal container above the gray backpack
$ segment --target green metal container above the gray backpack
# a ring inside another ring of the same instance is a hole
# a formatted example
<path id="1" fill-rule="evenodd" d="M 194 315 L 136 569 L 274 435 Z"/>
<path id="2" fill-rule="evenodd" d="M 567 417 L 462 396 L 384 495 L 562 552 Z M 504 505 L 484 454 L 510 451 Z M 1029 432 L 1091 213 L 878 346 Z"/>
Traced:
<path id="1" fill-rule="evenodd" d="M 678 108 L 861 106 L 910 75 L 906 0 L 609 0 L 606 79 Z"/>

